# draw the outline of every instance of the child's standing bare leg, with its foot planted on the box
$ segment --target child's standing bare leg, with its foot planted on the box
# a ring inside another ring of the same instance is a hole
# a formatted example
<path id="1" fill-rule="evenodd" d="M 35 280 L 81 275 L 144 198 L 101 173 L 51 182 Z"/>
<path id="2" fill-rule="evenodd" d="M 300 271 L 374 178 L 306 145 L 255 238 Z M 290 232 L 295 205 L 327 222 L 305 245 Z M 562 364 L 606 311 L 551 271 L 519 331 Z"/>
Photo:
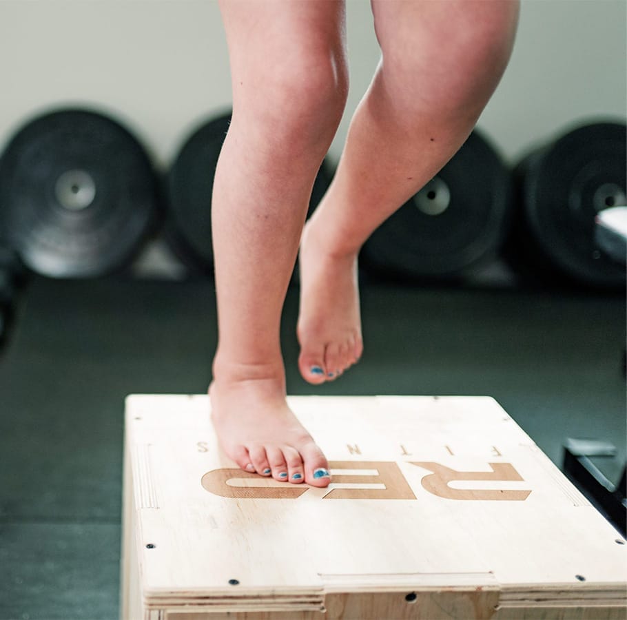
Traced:
<path id="1" fill-rule="evenodd" d="M 241 468 L 327 486 L 316 475 L 327 460 L 285 402 L 279 327 L 311 187 L 346 101 L 344 6 L 222 0 L 220 9 L 234 108 L 212 200 L 212 421 Z"/>

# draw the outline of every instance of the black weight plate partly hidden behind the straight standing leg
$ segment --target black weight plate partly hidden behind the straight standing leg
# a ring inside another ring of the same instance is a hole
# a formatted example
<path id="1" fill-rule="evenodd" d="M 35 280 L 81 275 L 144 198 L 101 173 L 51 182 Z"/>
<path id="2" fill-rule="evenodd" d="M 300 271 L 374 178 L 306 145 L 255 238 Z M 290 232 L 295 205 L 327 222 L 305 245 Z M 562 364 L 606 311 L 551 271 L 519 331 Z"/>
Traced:
<path id="1" fill-rule="evenodd" d="M 167 179 L 167 240 L 187 265 L 211 273 L 211 200 L 218 156 L 231 122 L 231 114 L 207 121 L 192 133 L 178 152 Z M 325 194 L 331 173 L 325 162 L 314 183 L 309 214 Z"/>

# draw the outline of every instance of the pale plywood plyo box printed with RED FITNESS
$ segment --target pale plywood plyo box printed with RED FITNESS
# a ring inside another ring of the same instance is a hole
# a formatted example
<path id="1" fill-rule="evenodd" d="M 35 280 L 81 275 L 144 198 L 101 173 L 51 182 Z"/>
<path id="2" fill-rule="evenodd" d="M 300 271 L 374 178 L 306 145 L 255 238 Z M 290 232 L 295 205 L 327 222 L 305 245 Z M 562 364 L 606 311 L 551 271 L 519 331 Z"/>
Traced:
<path id="1" fill-rule="evenodd" d="M 241 471 L 207 396 L 126 403 L 124 620 L 624 619 L 627 545 L 489 397 L 289 397 L 328 488 Z"/>

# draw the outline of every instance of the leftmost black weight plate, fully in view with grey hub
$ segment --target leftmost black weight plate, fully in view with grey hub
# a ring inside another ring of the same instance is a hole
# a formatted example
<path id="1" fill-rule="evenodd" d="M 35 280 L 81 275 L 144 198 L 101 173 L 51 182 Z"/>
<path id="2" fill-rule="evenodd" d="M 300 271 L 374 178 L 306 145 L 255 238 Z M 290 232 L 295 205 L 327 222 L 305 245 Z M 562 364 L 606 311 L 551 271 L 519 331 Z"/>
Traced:
<path id="1" fill-rule="evenodd" d="M 88 278 L 130 260 L 152 224 L 156 178 L 136 139 L 110 118 L 60 110 L 22 127 L 0 163 L 0 230 L 23 262 Z"/>

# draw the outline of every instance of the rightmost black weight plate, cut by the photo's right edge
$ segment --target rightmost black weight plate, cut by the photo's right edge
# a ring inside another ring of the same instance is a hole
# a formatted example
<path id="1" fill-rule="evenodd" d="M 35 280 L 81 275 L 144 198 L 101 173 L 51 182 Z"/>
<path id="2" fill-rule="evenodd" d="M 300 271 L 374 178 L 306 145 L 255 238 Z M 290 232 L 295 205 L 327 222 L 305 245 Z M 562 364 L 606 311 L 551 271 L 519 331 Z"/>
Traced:
<path id="1" fill-rule="evenodd" d="M 626 135 L 619 123 L 584 125 L 517 166 L 517 246 L 541 276 L 548 269 L 591 287 L 625 286 L 624 267 L 597 246 L 595 216 L 624 203 Z"/>

